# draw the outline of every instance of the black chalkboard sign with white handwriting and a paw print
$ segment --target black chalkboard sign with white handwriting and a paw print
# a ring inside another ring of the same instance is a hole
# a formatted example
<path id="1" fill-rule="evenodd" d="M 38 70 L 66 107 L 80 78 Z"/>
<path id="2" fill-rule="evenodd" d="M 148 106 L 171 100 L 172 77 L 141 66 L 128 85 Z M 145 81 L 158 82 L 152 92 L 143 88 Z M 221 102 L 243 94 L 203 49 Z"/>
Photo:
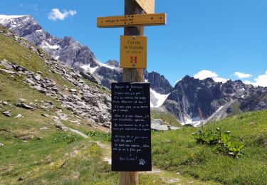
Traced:
<path id="1" fill-rule="evenodd" d="M 150 84 L 112 83 L 112 171 L 151 171 Z"/>

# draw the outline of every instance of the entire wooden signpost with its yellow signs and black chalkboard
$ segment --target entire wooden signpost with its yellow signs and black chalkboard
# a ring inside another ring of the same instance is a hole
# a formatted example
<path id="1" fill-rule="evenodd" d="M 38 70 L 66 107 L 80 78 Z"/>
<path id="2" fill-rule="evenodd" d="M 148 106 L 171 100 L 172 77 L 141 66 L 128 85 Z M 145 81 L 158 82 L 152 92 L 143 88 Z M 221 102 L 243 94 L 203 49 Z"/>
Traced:
<path id="1" fill-rule="evenodd" d="M 97 20 L 99 28 L 124 27 L 120 46 L 123 83 L 112 84 L 112 170 L 120 171 L 121 185 L 136 185 L 137 171 L 152 170 L 150 85 L 144 83 L 147 38 L 143 35 L 144 26 L 165 25 L 167 17 L 154 13 L 155 0 L 125 0 L 125 16 Z"/>

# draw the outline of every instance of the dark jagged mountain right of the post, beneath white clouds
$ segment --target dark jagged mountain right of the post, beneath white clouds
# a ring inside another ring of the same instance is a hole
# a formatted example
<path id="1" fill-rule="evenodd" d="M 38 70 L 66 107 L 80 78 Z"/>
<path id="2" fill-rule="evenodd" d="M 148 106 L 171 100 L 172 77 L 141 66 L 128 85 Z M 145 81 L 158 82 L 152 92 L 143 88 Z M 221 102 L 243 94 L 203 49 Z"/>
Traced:
<path id="1" fill-rule="evenodd" d="M 267 88 L 254 88 L 241 80 L 216 83 L 211 78 L 199 80 L 185 76 L 174 87 L 161 108 L 172 112 L 179 122 L 209 120 L 211 115 L 223 107 L 230 107 L 236 101 L 241 103 L 241 111 L 263 110 L 267 108 Z M 226 117 L 231 112 L 223 109 L 218 116 Z M 224 116 L 222 116 L 224 115 Z M 214 117 L 216 119 L 216 117 Z"/>

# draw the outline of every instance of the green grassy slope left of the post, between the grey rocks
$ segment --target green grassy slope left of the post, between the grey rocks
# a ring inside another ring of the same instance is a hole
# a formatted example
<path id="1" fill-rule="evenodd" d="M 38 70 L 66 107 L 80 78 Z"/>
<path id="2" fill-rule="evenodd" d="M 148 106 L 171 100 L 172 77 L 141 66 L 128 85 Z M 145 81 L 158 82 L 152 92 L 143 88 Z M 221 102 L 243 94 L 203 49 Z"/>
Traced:
<path id="1" fill-rule="evenodd" d="M 0 29 L 4 28 L 0 26 Z M 43 52 L 43 51 L 42 51 Z M 44 53 L 48 56 L 46 53 Z M 45 62 L 28 48 L 24 48 L 13 38 L 0 34 L 0 60 L 5 58 L 18 63 L 28 70 L 43 73 L 43 76 L 53 79 L 62 90 L 66 85 L 73 85 L 64 80 L 60 75 L 51 73 Z M 53 126 L 51 117 L 42 117 L 42 113 L 56 115 L 56 110 L 61 105 L 51 97 L 38 93 L 23 83 L 23 76 L 14 76 L 0 73 L 0 100 L 6 100 L 9 105 L 0 105 L 0 112 L 11 110 L 11 117 L 4 117 L 0 113 L 0 184 L 118 184 L 118 173 L 110 171 L 110 165 L 103 162 L 102 149 L 93 144 L 92 140 L 100 139 L 107 142 L 107 134 L 93 132 L 88 127 L 86 120 L 81 120 L 80 125 L 64 122 L 68 127 L 79 129 L 85 133 L 95 135 L 84 139 L 71 132 L 62 132 Z M 88 85 L 95 85 L 85 80 Z M 99 85 L 95 88 L 106 91 Z M 20 98 L 26 103 L 40 103 L 52 101 L 55 108 L 50 110 L 35 109 L 25 110 L 14 106 Z M 68 110 L 63 109 L 68 113 Z M 23 118 L 16 119 L 21 114 Z M 75 120 L 71 118 L 70 120 Z M 47 127 L 47 130 L 41 130 Z M 33 135 L 33 139 L 23 141 L 20 137 Z M 42 137 L 43 139 L 38 139 Z M 110 137 L 110 136 L 108 136 Z M 176 177 L 168 174 L 169 178 Z M 23 179 L 19 181 L 19 179 Z M 141 184 L 166 184 L 161 176 L 141 174 Z M 182 179 L 192 181 L 192 179 Z M 201 184 L 201 183 L 199 183 Z"/>

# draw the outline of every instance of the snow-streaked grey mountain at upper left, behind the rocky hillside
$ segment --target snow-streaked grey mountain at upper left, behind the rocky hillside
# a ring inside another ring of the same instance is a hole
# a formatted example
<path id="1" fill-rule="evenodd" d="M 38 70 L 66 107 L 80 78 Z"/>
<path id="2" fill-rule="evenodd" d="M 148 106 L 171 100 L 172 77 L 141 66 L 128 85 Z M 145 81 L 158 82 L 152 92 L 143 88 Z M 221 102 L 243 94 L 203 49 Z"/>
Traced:
<path id="1" fill-rule="evenodd" d="M 80 65 L 90 64 L 91 68 L 98 66 L 93 52 L 87 46 L 80 45 L 68 36 L 64 38 L 52 36 L 31 16 L 0 18 L 0 24 L 75 69 L 80 69 Z"/>

